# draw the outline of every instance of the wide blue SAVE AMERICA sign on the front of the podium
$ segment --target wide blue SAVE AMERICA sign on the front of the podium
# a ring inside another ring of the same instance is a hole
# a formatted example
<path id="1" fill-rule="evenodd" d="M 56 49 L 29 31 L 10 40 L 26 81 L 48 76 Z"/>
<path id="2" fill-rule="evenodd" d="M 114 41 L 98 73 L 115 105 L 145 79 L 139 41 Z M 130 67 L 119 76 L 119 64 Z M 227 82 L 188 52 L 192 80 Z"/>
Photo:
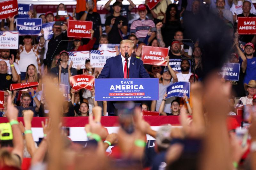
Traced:
<path id="1" fill-rule="evenodd" d="M 158 100 L 158 78 L 96 78 L 95 100 Z"/>

